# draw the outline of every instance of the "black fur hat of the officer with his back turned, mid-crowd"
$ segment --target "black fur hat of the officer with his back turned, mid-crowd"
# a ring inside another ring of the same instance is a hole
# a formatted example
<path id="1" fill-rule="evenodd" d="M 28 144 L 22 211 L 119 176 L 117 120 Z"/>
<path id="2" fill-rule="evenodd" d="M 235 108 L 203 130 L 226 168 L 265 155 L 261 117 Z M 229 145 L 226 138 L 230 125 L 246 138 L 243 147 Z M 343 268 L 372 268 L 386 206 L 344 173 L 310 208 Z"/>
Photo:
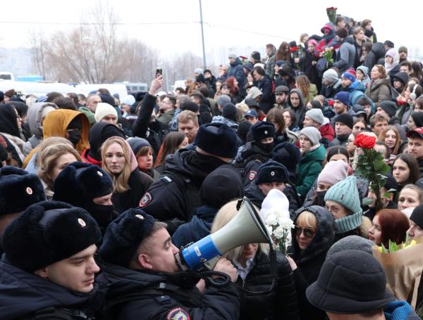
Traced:
<path id="1" fill-rule="evenodd" d="M 195 144 L 207 153 L 222 158 L 235 158 L 237 137 L 233 129 L 223 123 L 203 124 L 195 136 Z"/>

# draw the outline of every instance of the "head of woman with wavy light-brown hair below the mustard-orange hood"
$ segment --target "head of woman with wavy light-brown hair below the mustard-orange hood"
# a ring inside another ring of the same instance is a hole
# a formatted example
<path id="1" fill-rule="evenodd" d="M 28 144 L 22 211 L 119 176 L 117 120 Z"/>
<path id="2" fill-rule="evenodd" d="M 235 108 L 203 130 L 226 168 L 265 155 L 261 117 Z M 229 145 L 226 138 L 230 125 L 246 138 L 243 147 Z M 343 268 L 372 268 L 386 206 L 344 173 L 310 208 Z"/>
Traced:
<path id="1" fill-rule="evenodd" d="M 53 198 L 53 184 L 56 177 L 69 163 L 75 161 L 82 161 L 82 159 L 68 139 L 53 136 L 39 145 L 38 176 L 42 180 L 47 200 Z"/>

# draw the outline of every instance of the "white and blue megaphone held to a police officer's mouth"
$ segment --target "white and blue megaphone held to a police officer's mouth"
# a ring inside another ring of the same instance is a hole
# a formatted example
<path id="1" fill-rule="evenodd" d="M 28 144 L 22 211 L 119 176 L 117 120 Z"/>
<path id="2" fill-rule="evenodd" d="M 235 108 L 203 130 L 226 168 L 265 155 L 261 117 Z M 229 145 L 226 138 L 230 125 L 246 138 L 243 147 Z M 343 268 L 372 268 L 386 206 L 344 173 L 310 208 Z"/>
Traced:
<path id="1" fill-rule="evenodd" d="M 183 270 L 200 269 L 203 264 L 213 269 L 217 262 L 215 257 L 248 243 L 271 243 L 271 237 L 250 200 L 244 197 L 231 222 L 219 231 L 188 245 L 176 255 L 176 260 Z M 214 261 L 213 265 L 207 264 L 210 260 Z"/>

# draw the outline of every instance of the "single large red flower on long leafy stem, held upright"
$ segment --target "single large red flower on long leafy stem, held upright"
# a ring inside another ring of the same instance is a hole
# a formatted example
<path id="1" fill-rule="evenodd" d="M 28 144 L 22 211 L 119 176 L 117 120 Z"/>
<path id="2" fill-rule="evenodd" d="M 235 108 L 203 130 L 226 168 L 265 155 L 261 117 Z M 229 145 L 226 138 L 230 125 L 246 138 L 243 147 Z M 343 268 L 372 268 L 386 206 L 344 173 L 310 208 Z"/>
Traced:
<path id="1" fill-rule="evenodd" d="M 381 188 L 386 184 L 384 174 L 391 171 L 391 168 L 384 162 L 384 157 L 378 151 L 374 150 L 376 136 L 366 133 L 358 134 L 354 145 L 362 148 L 362 155 L 358 156 L 357 173 L 370 182 L 369 188 L 376 195 L 376 212 L 383 208 L 381 199 Z M 387 193 L 393 190 L 388 190 Z M 388 195 L 387 195 L 388 196 Z M 362 205 L 372 203 L 372 198 L 364 198 Z"/>

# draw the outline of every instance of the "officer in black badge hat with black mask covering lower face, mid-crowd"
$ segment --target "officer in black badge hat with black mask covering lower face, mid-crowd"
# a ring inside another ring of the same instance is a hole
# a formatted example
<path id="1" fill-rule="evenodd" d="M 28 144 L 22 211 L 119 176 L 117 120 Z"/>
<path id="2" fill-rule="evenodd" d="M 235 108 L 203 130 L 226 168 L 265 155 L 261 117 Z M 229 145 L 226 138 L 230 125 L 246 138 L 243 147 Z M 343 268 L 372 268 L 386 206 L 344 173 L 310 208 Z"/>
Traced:
<path id="1" fill-rule="evenodd" d="M 235 162 L 243 175 L 244 189 L 257 178 L 257 169 L 271 158 L 274 148 L 275 126 L 271 122 L 260 121 L 250 128 L 252 141 L 247 142 L 241 151 L 241 158 Z"/>

